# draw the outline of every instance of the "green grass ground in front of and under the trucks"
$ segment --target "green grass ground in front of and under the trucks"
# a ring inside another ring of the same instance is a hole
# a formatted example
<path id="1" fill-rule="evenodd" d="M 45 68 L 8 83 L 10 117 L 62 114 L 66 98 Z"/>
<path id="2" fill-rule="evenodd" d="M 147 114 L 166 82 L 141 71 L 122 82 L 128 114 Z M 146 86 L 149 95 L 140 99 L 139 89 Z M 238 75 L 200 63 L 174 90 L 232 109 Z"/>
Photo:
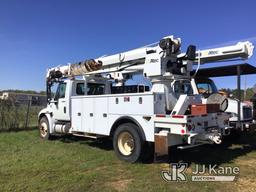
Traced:
<path id="1" fill-rule="evenodd" d="M 236 182 L 165 182 L 165 163 L 118 160 L 107 140 L 61 137 L 43 141 L 37 130 L 0 133 L 0 191 L 255 191 L 256 135 L 238 144 L 173 151 L 172 162 L 240 167 Z"/>

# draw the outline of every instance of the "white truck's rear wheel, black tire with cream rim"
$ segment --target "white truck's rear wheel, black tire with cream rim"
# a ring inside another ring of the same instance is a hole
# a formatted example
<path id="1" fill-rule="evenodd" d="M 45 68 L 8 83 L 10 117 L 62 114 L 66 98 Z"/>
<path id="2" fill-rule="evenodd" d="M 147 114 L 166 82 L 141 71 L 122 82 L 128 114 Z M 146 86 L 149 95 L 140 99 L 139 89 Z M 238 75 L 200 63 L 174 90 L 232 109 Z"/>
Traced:
<path id="1" fill-rule="evenodd" d="M 143 139 L 132 123 L 121 124 L 114 133 L 113 147 L 120 160 L 135 163 L 142 155 Z"/>

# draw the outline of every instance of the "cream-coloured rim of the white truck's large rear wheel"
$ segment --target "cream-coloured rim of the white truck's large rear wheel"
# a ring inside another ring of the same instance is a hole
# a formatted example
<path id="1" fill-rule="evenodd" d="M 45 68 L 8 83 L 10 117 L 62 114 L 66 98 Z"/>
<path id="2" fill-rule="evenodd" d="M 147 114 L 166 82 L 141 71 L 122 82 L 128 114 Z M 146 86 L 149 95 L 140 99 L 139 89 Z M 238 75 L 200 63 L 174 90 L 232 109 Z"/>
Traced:
<path id="1" fill-rule="evenodd" d="M 132 154 L 134 150 L 134 139 L 129 132 L 119 134 L 118 149 L 125 156 Z"/>

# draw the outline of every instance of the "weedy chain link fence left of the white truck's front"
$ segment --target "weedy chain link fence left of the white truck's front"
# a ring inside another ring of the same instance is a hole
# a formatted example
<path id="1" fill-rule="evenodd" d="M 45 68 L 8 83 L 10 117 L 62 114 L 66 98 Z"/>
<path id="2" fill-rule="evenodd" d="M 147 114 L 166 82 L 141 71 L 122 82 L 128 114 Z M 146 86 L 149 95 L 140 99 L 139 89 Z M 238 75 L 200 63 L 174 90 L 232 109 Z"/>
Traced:
<path id="1" fill-rule="evenodd" d="M 37 127 L 37 115 L 45 102 L 30 97 L 26 100 L 0 99 L 0 132 L 28 130 Z"/>

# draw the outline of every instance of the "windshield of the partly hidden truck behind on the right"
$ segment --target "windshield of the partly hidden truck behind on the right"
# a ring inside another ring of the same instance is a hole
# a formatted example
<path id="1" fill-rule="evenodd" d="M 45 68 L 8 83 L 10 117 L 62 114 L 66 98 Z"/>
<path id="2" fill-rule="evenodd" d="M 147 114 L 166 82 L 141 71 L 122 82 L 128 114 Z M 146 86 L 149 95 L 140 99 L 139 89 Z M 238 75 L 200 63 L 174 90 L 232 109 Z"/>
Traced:
<path id="1" fill-rule="evenodd" d="M 196 86 L 199 94 L 203 94 L 205 96 L 218 93 L 218 89 L 214 82 L 210 79 L 197 79 Z"/>

